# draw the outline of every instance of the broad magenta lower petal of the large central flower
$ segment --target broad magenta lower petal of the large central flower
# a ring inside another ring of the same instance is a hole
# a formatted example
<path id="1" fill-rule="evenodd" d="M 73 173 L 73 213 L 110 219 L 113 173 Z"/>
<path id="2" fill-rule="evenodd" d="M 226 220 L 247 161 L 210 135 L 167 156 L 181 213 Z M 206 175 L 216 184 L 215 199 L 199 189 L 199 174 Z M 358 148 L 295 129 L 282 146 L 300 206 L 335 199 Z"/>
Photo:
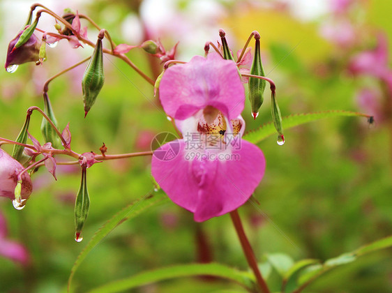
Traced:
<path id="1" fill-rule="evenodd" d="M 254 144 L 241 140 L 231 160 L 186 160 L 186 144 L 172 160 L 153 156 L 151 172 L 170 199 L 195 213 L 202 222 L 229 213 L 244 204 L 262 180 L 265 160 Z M 170 143 L 160 151 L 169 151 Z"/>

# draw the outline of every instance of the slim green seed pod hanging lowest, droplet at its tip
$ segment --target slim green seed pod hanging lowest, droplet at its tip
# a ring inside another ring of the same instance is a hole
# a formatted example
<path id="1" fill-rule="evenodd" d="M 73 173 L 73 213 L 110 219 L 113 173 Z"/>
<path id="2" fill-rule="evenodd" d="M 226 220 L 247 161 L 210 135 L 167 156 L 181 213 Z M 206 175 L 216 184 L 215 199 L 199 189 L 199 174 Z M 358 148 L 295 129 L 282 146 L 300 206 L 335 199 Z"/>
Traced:
<path id="1" fill-rule="evenodd" d="M 75 200 L 75 241 L 82 241 L 82 229 L 89 215 L 90 197 L 87 190 L 86 166 L 82 166 L 82 181 Z"/>

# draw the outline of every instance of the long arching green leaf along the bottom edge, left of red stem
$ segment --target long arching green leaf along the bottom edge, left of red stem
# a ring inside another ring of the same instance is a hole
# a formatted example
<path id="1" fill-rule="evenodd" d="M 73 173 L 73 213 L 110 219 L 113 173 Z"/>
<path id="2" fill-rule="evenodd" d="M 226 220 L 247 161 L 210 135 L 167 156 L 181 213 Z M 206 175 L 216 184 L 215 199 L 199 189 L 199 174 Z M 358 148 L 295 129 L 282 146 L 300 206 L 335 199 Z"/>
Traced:
<path id="1" fill-rule="evenodd" d="M 91 290 L 90 293 L 128 292 L 128 290 L 132 288 L 149 283 L 156 283 L 160 280 L 191 276 L 216 276 L 232 280 L 246 288 L 252 287 L 254 282 L 251 273 L 238 271 L 237 269 L 233 269 L 223 264 L 180 264 L 152 271 L 144 271 L 143 273 L 138 273 L 129 278 L 116 280 L 112 283 L 97 287 Z"/>

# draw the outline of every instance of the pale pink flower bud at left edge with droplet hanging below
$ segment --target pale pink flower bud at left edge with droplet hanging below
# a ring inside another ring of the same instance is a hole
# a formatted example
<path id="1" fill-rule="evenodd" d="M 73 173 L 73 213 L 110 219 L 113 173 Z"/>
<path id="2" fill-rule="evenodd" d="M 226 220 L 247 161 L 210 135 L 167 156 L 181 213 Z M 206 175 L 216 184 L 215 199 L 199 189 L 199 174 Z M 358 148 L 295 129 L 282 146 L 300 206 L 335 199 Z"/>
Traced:
<path id="1" fill-rule="evenodd" d="M 11 200 L 15 198 L 15 187 L 17 184 L 17 174 L 22 172 L 24 167 L 8 155 L 6 151 L 0 149 L 0 196 L 9 197 Z M 27 172 L 22 175 L 22 199 L 29 198 L 33 185 Z"/>

